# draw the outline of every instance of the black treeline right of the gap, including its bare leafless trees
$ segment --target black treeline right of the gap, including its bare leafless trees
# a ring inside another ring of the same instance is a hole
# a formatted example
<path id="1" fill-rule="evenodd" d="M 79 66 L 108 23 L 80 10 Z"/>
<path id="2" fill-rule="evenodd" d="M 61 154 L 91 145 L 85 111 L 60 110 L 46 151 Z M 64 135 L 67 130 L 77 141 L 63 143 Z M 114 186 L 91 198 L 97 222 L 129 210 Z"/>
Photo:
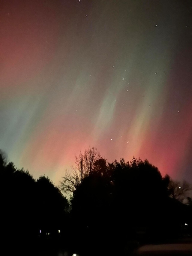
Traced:
<path id="1" fill-rule="evenodd" d="M 83 252 L 125 253 L 134 241 L 165 242 L 191 232 L 191 199 L 181 203 L 191 189 L 187 182 L 179 186 L 162 177 L 147 160 L 107 163 L 94 148 L 81 152 L 75 164 L 61 189 L 73 193 L 74 244 Z"/>

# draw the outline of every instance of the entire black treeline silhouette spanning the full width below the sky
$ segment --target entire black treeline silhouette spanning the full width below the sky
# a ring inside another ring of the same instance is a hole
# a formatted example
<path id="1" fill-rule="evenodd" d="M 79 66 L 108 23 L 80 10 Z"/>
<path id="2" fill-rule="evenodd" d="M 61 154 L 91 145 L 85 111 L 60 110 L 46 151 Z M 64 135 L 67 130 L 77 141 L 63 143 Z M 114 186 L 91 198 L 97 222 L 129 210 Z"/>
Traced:
<path id="1" fill-rule="evenodd" d="M 16 170 L 1 152 L 0 176 L 1 232 L 10 241 L 59 239 L 83 255 L 114 254 L 129 251 L 134 241 L 191 234 L 190 185 L 162 177 L 147 160 L 108 163 L 89 148 L 57 188 L 48 177 L 35 180 L 28 171 Z"/>

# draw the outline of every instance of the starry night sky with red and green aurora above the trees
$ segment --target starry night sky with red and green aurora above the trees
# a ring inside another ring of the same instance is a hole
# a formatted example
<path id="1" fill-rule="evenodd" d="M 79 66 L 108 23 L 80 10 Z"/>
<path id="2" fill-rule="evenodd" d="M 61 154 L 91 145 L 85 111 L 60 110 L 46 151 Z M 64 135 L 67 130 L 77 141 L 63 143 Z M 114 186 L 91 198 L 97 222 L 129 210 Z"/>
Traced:
<path id="1" fill-rule="evenodd" d="M 0 148 L 56 184 L 80 150 L 192 183 L 192 2 L 3 0 Z"/>

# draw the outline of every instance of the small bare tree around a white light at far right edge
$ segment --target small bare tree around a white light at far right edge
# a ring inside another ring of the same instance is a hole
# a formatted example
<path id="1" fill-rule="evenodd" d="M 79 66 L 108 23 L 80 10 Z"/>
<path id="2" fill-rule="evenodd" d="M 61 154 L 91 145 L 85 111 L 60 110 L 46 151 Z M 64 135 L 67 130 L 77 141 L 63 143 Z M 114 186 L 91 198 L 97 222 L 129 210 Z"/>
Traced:
<path id="1" fill-rule="evenodd" d="M 190 185 L 186 181 L 179 182 L 170 179 L 168 188 L 170 191 L 170 197 L 175 198 L 180 202 L 183 202 L 183 200 L 187 198 L 189 191 L 192 190 L 192 185 Z"/>

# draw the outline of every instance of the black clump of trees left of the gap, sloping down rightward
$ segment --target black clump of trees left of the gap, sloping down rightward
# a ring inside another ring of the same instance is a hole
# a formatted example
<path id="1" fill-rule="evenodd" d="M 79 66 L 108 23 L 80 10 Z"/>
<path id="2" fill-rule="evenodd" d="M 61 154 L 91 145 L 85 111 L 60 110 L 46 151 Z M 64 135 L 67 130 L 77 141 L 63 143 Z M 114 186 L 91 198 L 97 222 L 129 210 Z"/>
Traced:
<path id="1" fill-rule="evenodd" d="M 35 180 L 0 154 L 1 240 L 32 244 L 64 235 L 68 201 L 48 177 Z M 59 230 L 59 231 L 58 231 Z"/>

